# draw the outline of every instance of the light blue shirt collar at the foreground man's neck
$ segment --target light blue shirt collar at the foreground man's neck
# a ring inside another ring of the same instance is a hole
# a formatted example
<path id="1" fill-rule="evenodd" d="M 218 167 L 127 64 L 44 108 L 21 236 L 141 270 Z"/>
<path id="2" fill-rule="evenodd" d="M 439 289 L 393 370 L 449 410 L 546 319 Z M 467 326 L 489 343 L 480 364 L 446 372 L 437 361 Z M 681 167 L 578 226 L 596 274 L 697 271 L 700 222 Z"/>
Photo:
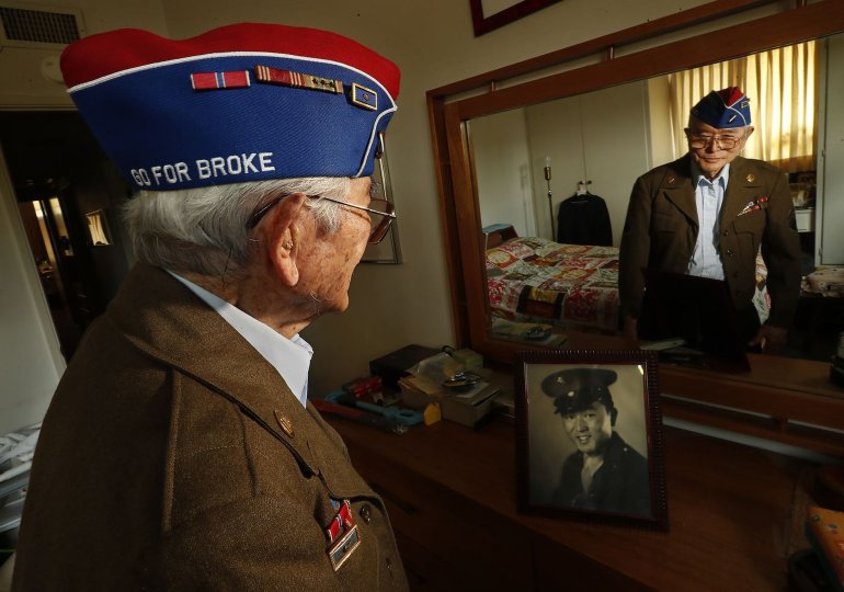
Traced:
<path id="1" fill-rule="evenodd" d="M 169 270 L 168 270 L 169 271 Z M 169 271 L 212 307 L 235 331 L 240 333 L 258 353 L 278 372 L 303 407 L 308 401 L 308 371 L 313 349 L 298 333 L 287 339 L 270 327 L 230 305 L 219 296 Z"/>

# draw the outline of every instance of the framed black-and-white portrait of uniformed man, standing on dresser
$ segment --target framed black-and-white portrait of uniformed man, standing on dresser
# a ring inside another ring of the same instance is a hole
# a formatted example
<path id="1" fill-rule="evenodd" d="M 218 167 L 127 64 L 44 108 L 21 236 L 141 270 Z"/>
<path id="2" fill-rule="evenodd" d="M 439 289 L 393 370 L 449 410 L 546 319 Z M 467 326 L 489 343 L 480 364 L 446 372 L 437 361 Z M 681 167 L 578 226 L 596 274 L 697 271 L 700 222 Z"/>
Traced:
<path id="1" fill-rule="evenodd" d="M 655 353 L 546 350 L 518 358 L 518 510 L 666 531 Z"/>

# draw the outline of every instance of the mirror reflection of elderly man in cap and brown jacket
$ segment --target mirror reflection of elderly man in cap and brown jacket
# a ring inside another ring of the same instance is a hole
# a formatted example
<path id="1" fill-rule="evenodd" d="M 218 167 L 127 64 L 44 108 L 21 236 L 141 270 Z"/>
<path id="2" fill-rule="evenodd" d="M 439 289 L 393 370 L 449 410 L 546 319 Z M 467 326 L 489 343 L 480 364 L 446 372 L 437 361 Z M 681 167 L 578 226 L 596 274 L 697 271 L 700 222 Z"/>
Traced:
<path id="1" fill-rule="evenodd" d="M 640 177 L 621 236 L 619 296 L 625 332 L 637 335 L 642 267 L 727 282 L 749 345 L 780 351 L 800 295 L 800 242 L 786 174 L 739 156 L 750 135 L 749 99 L 737 87 L 712 91 L 693 109 L 688 153 Z M 752 304 L 760 247 L 771 311 Z"/>

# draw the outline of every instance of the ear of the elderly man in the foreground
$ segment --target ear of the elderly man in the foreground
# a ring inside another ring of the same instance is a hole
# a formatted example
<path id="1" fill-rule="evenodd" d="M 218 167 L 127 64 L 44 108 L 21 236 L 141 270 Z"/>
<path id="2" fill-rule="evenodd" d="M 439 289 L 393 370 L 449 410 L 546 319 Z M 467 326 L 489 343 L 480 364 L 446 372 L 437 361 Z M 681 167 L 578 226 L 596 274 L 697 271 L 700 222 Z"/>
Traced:
<path id="1" fill-rule="evenodd" d="M 295 286 L 299 281 L 296 265 L 300 237 L 296 221 L 303 213 L 307 196 L 294 193 L 282 200 L 259 226 L 260 240 L 265 244 L 266 255 L 281 281 L 287 286 Z"/>

